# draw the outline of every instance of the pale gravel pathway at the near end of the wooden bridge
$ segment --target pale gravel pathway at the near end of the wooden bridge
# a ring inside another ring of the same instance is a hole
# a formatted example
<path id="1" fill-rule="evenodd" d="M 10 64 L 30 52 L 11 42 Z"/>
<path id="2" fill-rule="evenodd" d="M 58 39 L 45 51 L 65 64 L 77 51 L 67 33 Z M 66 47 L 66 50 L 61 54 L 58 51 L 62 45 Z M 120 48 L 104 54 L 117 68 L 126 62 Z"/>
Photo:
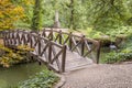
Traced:
<path id="1" fill-rule="evenodd" d="M 64 76 L 62 88 L 132 88 L 132 64 L 89 65 Z"/>

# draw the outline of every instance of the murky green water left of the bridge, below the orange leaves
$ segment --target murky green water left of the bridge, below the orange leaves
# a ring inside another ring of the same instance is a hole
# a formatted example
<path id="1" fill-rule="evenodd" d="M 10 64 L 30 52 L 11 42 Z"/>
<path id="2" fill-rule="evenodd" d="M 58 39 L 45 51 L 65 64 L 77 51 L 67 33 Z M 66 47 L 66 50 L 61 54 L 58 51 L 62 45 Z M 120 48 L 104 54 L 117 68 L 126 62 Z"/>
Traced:
<path id="1" fill-rule="evenodd" d="M 0 67 L 0 88 L 15 86 L 43 69 L 45 66 L 40 66 L 37 63 L 22 64 L 10 68 Z"/>

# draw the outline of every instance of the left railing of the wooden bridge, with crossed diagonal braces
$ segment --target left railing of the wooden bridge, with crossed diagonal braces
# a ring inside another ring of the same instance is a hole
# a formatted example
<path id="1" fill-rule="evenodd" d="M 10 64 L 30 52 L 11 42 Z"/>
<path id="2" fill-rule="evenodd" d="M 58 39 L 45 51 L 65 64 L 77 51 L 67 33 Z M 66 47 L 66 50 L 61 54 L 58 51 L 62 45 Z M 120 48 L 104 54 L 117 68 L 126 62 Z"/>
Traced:
<path id="1" fill-rule="evenodd" d="M 47 67 L 55 72 L 65 72 L 66 45 L 61 45 L 42 37 L 37 33 L 26 31 L 4 31 L 4 45 L 15 47 L 18 45 L 28 45 L 34 48 L 32 55 L 40 62 L 44 62 Z"/>

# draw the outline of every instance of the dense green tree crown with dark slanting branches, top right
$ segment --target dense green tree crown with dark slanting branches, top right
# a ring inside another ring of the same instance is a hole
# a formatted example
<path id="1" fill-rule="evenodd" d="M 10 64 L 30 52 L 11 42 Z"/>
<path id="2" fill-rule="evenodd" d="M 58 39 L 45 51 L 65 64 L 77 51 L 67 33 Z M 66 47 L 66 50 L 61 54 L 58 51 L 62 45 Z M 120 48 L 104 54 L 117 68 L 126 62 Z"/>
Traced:
<path id="1" fill-rule="evenodd" d="M 90 0 L 88 20 L 95 30 L 108 32 L 124 25 L 129 11 L 125 0 Z"/>

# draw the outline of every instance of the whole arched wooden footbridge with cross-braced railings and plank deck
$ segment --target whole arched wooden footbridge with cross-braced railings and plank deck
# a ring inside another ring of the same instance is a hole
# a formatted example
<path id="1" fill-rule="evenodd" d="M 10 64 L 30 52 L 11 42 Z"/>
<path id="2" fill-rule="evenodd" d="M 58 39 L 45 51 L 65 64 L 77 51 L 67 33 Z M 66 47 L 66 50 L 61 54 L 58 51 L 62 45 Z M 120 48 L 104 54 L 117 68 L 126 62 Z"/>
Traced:
<path id="1" fill-rule="evenodd" d="M 69 72 L 92 63 L 99 63 L 100 42 L 53 29 L 41 32 L 4 31 L 4 45 L 14 47 L 29 45 L 34 48 L 31 55 L 48 68 L 58 72 Z"/>

